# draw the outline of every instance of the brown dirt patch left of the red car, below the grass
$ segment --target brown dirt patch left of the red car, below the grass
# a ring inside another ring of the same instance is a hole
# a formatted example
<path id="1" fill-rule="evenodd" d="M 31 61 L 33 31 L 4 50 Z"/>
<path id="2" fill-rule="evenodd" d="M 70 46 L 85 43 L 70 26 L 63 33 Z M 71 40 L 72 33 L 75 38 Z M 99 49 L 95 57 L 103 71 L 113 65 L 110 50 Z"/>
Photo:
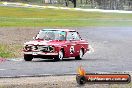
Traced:
<path id="1" fill-rule="evenodd" d="M 29 41 L 42 28 L 0 28 L 0 42 L 3 44 L 21 44 Z"/>

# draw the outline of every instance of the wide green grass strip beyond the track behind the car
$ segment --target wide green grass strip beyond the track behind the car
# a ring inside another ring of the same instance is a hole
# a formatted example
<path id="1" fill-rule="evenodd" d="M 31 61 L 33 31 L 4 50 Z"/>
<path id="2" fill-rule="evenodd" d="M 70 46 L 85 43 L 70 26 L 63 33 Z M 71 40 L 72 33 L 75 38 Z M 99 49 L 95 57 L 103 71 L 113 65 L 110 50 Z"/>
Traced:
<path id="1" fill-rule="evenodd" d="M 0 27 L 132 26 L 132 14 L 0 7 Z"/>

